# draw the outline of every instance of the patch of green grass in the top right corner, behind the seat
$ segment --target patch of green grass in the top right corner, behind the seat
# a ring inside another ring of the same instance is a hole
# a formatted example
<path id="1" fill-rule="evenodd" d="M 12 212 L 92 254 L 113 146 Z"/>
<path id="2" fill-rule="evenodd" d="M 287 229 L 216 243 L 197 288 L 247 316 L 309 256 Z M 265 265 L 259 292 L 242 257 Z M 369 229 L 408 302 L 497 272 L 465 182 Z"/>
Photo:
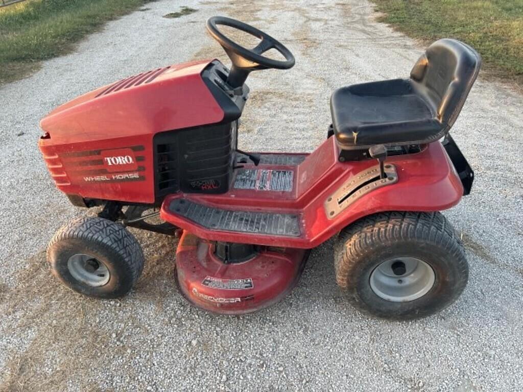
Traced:
<path id="1" fill-rule="evenodd" d="M 523 86 L 523 0 L 373 0 L 381 21 L 432 41 L 456 38 L 483 57 L 488 74 Z"/>

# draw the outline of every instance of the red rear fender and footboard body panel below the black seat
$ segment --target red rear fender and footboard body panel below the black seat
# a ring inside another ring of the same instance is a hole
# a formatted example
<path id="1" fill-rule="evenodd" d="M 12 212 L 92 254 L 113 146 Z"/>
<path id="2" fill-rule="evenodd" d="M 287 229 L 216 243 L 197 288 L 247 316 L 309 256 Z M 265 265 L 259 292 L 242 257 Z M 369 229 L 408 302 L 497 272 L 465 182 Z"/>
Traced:
<path id="1" fill-rule="evenodd" d="M 381 211 L 440 211 L 461 200 L 461 181 L 444 147 L 437 142 L 425 146 L 417 154 L 388 158 L 387 163 L 396 167 L 397 183 L 371 191 L 335 218 L 329 219 L 324 209 L 329 195 L 350 177 L 376 165 L 374 160 L 340 163 L 338 153 L 334 137 L 331 137 L 298 166 L 267 165 L 267 168 L 294 171 L 291 192 L 231 189 L 218 195 L 173 194 L 164 200 L 161 216 L 165 221 L 209 240 L 313 248 L 365 215 Z M 208 229 L 170 212 L 170 202 L 180 197 L 232 210 L 299 214 L 302 234 L 290 237 Z"/>

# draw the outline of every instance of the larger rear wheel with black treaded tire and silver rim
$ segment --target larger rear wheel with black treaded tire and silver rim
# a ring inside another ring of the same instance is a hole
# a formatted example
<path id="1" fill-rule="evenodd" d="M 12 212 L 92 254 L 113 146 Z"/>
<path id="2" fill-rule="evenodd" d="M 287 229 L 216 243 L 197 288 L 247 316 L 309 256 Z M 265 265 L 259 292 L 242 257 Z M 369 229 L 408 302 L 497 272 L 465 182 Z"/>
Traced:
<path id="1" fill-rule="evenodd" d="M 456 301 L 469 276 L 463 245 L 439 212 L 362 218 L 340 233 L 335 269 L 351 302 L 394 319 L 438 312 Z"/>

